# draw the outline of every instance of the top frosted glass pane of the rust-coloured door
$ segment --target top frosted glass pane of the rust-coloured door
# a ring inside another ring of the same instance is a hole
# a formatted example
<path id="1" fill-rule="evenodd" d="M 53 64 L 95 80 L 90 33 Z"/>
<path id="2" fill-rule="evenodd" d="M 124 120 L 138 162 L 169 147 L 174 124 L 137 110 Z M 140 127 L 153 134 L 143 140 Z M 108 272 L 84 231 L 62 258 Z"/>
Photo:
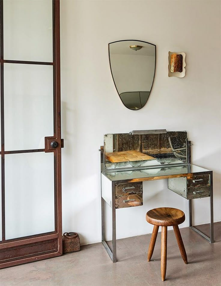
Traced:
<path id="1" fill-rule="evenodd" d="M 4 59 L 52 62 L 52 0 L 6 0 Z"/>

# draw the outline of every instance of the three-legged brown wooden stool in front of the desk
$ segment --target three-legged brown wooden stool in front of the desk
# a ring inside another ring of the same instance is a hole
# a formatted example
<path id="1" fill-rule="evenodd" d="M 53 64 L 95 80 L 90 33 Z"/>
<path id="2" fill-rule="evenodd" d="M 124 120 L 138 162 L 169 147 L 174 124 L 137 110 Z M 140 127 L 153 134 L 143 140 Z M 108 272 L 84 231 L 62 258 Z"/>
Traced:
<path id="1" fill-rule="evenodd" d="M 162 227 L 161 231 L 161 278 L 165 281 L 166 269 L 167 269 L 167 227 L 173 226 L 174 233 L 177 239 L 180 253 L 185 264 L 187 264 L 186 250 L 183 245 L 183 240 L 180 234 L 178 224 L 185 221 L 185 214 L 180 209 L 174 208 L 157 208 L 151 209 L 146 214 L 146 220 L 150 224 L 153 224 L 153 233 L 150 240 L 150 245 L 147 254 L 147 261 L 150 261 L 153 249 L 156 242 L 159 226 Z"/>

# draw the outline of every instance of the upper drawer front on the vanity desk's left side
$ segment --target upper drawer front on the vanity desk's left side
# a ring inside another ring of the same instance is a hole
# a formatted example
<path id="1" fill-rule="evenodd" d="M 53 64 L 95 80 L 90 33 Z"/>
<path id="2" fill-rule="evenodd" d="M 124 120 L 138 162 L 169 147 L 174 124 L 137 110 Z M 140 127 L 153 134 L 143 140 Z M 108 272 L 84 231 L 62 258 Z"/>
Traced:
<path id="1" fill-rule="evenodd" d="M 143 182 L 116 184 L 115 185 L 116 196 L 140 194 L 142 192 L 143 192 Z"/>

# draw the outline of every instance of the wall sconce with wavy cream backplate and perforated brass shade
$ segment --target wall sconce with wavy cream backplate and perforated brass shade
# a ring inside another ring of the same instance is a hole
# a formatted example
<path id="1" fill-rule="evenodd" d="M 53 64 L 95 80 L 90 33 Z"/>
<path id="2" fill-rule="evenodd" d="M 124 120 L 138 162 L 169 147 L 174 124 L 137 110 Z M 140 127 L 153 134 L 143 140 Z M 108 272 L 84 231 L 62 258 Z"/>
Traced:
<path id="1" fill-rule="evenodd" d="M 168 65 L 168 77 L 184 77 L 185 70 L 185 53 L 169 52 L 169 65 Z"/>

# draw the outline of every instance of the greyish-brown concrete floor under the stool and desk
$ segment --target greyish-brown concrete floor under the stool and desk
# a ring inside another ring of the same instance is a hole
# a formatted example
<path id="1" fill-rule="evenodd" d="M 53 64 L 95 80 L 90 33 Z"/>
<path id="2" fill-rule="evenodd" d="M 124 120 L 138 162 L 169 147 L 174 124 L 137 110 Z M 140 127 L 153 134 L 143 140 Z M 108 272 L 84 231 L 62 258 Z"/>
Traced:
<path id="1" fill-rule="evenodd" d="M 199 227 L 198 227 L 199 228 Z M 207 234 L 207 225 L 199 228 Z M 221 223 L 214 224 L 215 243 L 210 244 L 188 227 L 180 230 L 188 264 L 184 264 L 173 230 L 168 231 L 166 280 L 160 275 L 160 233 L 153 257 L 147 262 L 151 234 L 117 241 L 117 263 L 112 263 L 101 243 L 84 245 L 81 251 L 0 271 L 1 286 L 220 286 Z"/>

